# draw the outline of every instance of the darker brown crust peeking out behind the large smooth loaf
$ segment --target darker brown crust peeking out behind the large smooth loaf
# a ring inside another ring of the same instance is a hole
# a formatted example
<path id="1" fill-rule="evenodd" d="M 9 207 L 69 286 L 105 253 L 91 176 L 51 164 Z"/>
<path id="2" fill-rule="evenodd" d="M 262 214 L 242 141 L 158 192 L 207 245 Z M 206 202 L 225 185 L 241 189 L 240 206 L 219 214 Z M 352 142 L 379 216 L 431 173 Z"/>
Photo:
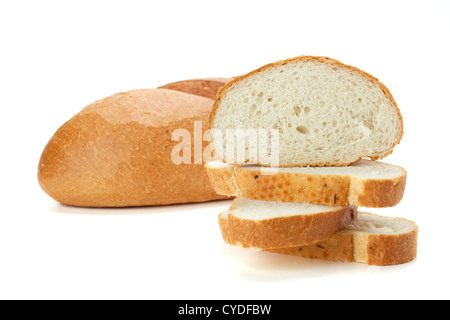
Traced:
<path id="1" fill-rule="evenodd" d="M 169 83 L 158 89 L 176 90 L 209 99 L 215 99 L 218 90 L 230 80 L 232 80 L 232 78 L 192 79 Z"/>

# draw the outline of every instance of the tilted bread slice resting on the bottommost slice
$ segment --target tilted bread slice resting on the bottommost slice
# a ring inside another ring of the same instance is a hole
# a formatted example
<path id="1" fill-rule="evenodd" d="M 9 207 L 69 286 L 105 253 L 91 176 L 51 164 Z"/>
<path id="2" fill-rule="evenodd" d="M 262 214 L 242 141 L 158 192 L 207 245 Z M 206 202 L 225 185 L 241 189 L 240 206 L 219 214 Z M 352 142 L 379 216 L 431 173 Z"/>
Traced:
<path id="1" fill-rule="evenodd" d="M 223 239 L 244 248 L 273 249 L 310 245 L 333 236 L 356 216 L 354 206 L 236 198 L 219 215 Z"/>

